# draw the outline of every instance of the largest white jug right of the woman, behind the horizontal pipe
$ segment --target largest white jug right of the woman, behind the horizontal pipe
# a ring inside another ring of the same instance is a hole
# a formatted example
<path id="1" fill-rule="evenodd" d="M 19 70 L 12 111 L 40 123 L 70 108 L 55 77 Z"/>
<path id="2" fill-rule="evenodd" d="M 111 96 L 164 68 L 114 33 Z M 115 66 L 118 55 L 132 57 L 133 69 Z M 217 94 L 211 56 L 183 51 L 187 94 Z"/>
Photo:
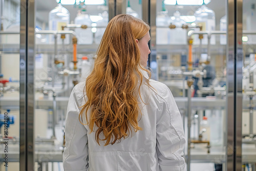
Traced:
<path id="1" fill-rule="evenodd" d="M 196 17 L 196 25 L 197 26 L 202 26 L 203 31 L 212 31 L 215 30 L 216 28 L 216 19 L 215 19 L 215 12 L 206 6 L 202 6 L 199 9 L 196 10 L 195 12 L 195 17 Z M 215 45 L 215 35 L 211 35 L 210 38 L 210 44 Z M 194 36 L 194 44 L 199 45 L 200 44 L 200 39 L 199 35 L 196 34 Z M 208 38 L 206 35 L 204 35 L 204 38 L 202 39 L 202 44 L 207 45 L 208 44 Z"/>

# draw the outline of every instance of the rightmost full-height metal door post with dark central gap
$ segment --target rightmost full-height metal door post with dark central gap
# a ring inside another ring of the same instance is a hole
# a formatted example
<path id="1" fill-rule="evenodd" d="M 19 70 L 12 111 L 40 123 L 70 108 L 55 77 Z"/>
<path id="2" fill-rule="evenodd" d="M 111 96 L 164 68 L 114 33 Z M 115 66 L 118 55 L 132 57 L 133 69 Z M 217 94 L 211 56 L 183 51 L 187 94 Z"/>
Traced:
<path id="1" fill-rule="evenodd" d="M 242 168 L 242 22 L 243 0 L 228 0 L 227 144 L 225 170 Z"/>

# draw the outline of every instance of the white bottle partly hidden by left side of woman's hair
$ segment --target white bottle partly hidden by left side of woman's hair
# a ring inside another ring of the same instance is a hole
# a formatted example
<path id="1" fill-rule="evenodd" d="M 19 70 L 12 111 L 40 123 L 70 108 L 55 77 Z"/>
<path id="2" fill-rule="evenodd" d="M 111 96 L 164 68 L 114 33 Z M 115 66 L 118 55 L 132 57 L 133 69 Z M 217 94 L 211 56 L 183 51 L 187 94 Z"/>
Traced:
<path id="1" fill-rule="evenodd" d="M 101 38 L 106 30 L 106 25 L 108 25 L 109 23 L 109 13 L 108 11 L 104 11 L 101 14 L 99 14 L 102 16 L 101 20 L 98 20 L 97 22 L 97 31 L 95 33 L 95 43 L 99 44 L 101 41 Z M 101 28 L 100 28 L 101 27 Z"/>

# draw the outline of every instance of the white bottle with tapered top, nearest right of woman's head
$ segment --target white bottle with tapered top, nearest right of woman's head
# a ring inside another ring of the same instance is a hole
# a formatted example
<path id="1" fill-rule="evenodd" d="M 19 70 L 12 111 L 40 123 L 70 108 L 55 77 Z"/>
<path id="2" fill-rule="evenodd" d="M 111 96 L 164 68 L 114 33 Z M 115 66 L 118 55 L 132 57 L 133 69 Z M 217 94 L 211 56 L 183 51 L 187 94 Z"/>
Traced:
<path id="1" fill-rule="evenodd" d="M 156 44 L 170 45 L 170 17 L 168 11 L 165 10 L 164 3 L 162 3 L 162 11 L 156 17 Z"/>

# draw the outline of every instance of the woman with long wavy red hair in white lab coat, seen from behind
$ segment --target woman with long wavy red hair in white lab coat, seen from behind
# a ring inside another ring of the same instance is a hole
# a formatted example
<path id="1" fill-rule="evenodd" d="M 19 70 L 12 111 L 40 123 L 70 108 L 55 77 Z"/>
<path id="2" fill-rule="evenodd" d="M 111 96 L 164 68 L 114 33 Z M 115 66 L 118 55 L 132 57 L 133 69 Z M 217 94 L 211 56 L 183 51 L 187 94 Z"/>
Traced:
<path id="1" fill-rule="evenodd" d="M 145 69 L 149 30 L 126 14 L 109 22 L 86 86 L 69 99 L 65 170 L 185 170 L 174 97 Z"/>

